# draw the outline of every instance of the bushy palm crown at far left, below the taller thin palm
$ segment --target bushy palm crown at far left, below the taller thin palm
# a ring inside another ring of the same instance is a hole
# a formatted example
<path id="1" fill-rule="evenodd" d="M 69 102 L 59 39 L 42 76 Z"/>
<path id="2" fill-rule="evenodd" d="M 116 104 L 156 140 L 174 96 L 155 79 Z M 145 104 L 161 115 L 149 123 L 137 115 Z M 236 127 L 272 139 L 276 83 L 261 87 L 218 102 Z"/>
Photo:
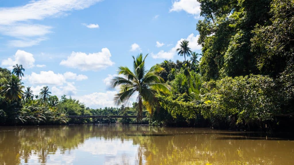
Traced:
<path id="1" fill-rule="evenodd" d="M 3 95 L 6 100 L 19 101 L 23 95 L 22 88 L 24 88 L 24 86 L 22 84 L 23 83 L 21 83 L 18 77 L 12 75 L 11 80 L 7 84 L 1 86 L 1 95 Z"/>

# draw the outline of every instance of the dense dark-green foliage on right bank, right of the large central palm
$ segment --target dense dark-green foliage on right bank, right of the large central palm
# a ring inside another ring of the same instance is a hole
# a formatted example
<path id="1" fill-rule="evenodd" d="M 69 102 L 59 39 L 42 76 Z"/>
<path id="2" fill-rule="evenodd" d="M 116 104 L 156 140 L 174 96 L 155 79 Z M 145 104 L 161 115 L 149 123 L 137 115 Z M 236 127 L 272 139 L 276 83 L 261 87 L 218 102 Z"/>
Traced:
<path id="1" fill-rule="evenodd" d="M 293 1 L 198 1 L 202 57 L 199 65 L 194 53 L 181 65 L 161 63 L 161 75 L 172 87 L 171 95 L 158 96 L 163 112 L 190 124 L 206 118 L 222 128 L 292 123 Z"/>

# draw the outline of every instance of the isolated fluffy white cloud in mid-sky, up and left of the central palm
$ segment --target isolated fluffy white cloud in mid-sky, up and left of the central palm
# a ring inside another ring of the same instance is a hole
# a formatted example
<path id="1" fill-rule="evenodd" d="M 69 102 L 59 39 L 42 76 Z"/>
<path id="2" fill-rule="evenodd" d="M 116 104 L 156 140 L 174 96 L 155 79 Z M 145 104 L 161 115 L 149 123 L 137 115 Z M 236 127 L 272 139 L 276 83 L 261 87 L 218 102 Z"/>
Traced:
<path id="1" fill-rule="evenodd" d="M 103 48 L 98 53 L 86 53 L 72 52 L 67 60 L 62 60 L 60 65 L 64 65 L 70 68 L 78 68 L 80 70 L 101 70 L 114 63 L 110 60 L 111 53 L 108 48 Z"/>

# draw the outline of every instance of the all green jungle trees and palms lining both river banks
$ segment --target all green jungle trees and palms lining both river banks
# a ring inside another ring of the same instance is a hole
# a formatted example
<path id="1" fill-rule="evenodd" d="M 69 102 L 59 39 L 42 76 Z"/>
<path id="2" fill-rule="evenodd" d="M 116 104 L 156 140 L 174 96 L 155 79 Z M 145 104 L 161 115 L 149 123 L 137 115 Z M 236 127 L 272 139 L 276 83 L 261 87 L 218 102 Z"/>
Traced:
<path id="1" fill-rule="evenodd" d="M 118 68 L 111 87 L 120 108 L 90 109 L 78 100 L 39 96 L 21 83 L 22 65 L 0 68 L 0 122 L 77 122 L 66 115 L 148 115 L 149 124 L 278 130 L 293 124 L 294 3 L 292 0 L 198 0 L 196 24 L 201 52 L 181 41 L 184 61 L 164 60 L 145 68 L 143 54 L 133 68 Z M 135 97 L 133 107 L 124 107 Z M 99 119 L 100 123 L 118 119 Z M 84 123 L 93 122 L 84 119 Z M 130 120 L 129 122 L 135 122 Z"/>

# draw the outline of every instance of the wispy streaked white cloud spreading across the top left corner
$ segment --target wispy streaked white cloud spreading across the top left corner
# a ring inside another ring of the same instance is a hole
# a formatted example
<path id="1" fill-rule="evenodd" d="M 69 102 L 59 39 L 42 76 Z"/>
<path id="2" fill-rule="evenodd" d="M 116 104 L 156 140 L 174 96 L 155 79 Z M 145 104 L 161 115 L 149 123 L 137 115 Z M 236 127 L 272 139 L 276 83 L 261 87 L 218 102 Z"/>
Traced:
<path id="1" fill-rule="evenodd" d="M 44 41 L 44 37 L 40 39 L 41 36 L 51 33 L 52 27 L 34 24 L 31 20 L 66 15 L 69 11 L 88 8 L 98 1 L 101 0 L 39 0 L 29 1 L 24 6 L 0 8 L 0 34 L 21 38 L 21 40 L 8 41 L 9 46 L 37 45 Z"/>

